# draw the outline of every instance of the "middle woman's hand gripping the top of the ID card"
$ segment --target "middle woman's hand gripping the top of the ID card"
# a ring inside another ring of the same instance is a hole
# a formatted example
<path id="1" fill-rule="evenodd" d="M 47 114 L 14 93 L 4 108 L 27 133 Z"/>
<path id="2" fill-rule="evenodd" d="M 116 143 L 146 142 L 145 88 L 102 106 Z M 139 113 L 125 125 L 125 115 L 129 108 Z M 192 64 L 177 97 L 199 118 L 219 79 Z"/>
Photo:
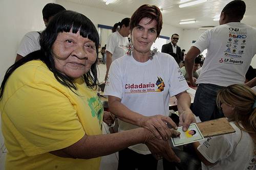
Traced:
<path id="1" fill-rule="evenodd" d="M 185 132 L 191 123 L 196 123 L 193 112 L 190 109 L 183 111 L 180 114 L 179 126 L 183 126 L 182 130 Z"/>

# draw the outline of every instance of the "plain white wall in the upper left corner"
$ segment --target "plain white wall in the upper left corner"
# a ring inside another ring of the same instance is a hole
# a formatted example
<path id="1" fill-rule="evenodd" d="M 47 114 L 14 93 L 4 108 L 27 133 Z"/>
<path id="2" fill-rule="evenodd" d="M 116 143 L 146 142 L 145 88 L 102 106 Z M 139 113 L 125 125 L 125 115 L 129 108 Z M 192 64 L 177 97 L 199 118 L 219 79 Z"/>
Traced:
<path id="1" fill-rule="evenodd" d="M 16 51 L 22 37 L 29 31 L 45 28 L 42 8 L 50 0 L 1 0 L 0 6 L 0 82 L 6 69 L 14 63 Z"/>

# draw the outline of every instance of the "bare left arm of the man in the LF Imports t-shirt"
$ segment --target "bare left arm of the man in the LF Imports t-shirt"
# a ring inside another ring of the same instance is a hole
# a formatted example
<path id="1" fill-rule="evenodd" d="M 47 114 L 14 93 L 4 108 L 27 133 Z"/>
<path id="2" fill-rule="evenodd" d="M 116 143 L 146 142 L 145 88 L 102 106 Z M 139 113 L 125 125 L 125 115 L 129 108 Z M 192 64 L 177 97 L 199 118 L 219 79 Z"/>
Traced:
<path id="1" fill-rule="evenodd" d="M 200 50 L 195 47 L 191 46 L 190 50 L 187 52 L 185 57 L 185 68 L 187 71 L 188 80 L 191 86 L 196 86 L 195 81 L 193 80 L 193 67 L 195 58 L 200 54 Z"/>

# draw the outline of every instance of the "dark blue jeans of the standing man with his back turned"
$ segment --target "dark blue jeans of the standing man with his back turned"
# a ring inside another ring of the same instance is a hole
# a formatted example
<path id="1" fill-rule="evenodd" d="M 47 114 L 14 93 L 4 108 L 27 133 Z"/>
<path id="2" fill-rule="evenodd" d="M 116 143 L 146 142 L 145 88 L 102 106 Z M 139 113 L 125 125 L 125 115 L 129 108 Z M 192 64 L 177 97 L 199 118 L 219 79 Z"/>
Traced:
<path id="1" fill-rule="evenodd" d="M 199 84 L 193 103 L 193 113 L 199 116 L 202 122 L 224 117 L 216 104 L 217 93 L 221 88 L 223 87 L 214 84 Z"/>

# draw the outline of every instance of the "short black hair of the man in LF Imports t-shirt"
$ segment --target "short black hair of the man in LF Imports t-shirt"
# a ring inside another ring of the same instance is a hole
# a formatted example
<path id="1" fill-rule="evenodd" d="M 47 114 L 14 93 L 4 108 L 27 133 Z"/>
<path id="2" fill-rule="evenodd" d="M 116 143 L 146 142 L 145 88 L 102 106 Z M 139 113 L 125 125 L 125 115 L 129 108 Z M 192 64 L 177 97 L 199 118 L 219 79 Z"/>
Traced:
<path id="1" fill-rule="evenodd" d="M 228 3 L 221 13 L 226 14 L 230 19 L 241 20 L 244 17 L 246 5 L 241 0 L 234 0 Z"/>

